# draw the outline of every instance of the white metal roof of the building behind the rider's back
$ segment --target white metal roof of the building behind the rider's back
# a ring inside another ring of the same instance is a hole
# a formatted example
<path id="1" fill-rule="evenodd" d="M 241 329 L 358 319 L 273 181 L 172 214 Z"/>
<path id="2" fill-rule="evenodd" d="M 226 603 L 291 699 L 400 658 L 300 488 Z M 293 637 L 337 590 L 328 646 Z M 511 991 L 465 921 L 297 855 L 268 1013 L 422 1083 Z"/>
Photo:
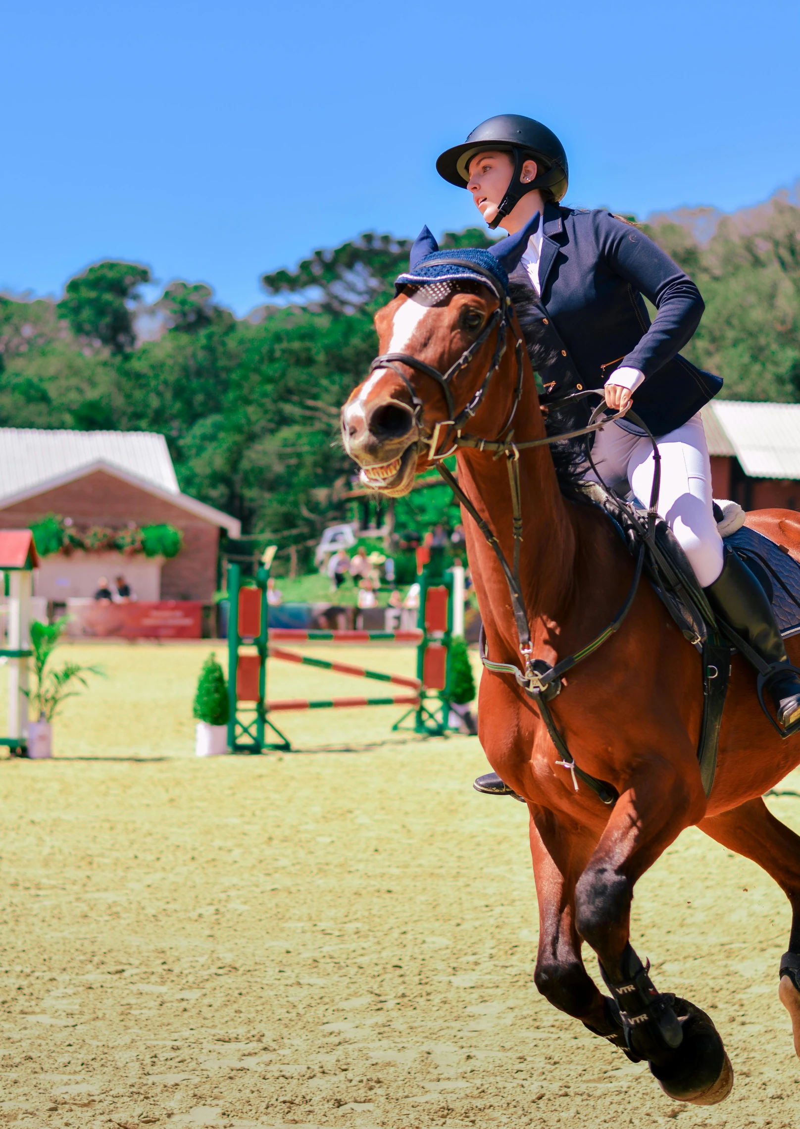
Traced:
<path id="1" fill-rule="evenodd" d="M 753 479 L 800 480 L 800 404 L 714 400 L 703 422 L 711 455 L 736 455 Z"/>

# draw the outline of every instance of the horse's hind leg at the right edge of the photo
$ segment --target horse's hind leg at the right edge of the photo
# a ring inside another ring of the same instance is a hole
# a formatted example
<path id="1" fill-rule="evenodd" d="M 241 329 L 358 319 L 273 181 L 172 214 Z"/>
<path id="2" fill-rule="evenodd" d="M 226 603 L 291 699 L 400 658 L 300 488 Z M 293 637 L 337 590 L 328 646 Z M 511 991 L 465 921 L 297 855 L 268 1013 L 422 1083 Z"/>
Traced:
<path id="1" fill-rule="evenodd" d="M 753 859 L 775 879 L 792 908 L 789 952 L 781 957 L 777 995 L 789 1012 L 800 1058 L 800 837 L 776 820 L 761 797 L 698 824 L 729 850 Z"/>

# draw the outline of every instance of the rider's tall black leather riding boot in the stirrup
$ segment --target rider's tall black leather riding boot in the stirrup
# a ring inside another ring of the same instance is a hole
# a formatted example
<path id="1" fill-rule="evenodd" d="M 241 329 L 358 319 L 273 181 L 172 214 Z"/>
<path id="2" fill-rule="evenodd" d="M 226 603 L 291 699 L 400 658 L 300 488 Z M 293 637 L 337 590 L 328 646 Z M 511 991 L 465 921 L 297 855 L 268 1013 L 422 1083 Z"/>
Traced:
<path id="1" fill-rule="evenodd" d="M 791 728 L 800 721 L 800 676 L 780 668 L 789 663 L 789 656 L 766 593 L 729 549 L 719 577 L 703 590 L 720 618 L 774 668 L 765 685 L 775 703 L 777 724 L 782 729 Z"/>

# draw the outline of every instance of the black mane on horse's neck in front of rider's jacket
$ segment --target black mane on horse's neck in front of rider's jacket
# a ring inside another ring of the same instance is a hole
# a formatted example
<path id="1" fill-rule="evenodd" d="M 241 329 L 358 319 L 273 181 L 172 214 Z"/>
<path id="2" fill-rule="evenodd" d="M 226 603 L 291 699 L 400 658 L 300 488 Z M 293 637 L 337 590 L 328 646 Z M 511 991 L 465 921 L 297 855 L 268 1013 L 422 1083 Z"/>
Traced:
<path id="1" fill-rule="evenodd" d="M 512 281 L 509 283 L 509 297 L 517 313 L 517 320 L 522 331 L 531 368 L 537 373 L 539 369 L 551 365 L 556 359 L 557 353 L 552 348 L 545 345 L 543 341 L 542 313 L 536 304 L 536 295 L 524 282 Z M 569 406 L 546 409 L 544 417 L 547 435 L 562 435 L 564 431 L 574 431 L 586 425 L 586 402 L 579 400 Z M 578 483 L 581 480 L 582 466 L 586 463 L 583 437 L 579 436 L 577 439 L 554 443 L 548 447 L 548 450 L 553 460 L 561 492 L 568 498 L 574 498 L 580 493 Z"/>

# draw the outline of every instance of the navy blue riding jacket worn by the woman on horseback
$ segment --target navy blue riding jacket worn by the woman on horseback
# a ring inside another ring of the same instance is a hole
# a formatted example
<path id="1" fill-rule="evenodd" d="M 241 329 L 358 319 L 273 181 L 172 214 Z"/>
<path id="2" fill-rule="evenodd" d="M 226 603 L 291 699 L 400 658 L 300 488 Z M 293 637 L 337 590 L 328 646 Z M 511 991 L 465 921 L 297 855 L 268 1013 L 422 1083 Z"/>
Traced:
<path id="1" fill-rule="evenodd" d="M 539 329 L 552 358 L 538 367 L 544 402 L 600 388 L 630 366 L 645 376 L 634 411 L 653 435 L 674 431 L 722 387 L 678 351 L 700 324 L 700 290 L 652 239 L 607 211 L 547 203 L 543 219 Z M 530 287 L 521 265 L 511 280 Z M 658 310 L 652 324 L 642 295 Z"/>

